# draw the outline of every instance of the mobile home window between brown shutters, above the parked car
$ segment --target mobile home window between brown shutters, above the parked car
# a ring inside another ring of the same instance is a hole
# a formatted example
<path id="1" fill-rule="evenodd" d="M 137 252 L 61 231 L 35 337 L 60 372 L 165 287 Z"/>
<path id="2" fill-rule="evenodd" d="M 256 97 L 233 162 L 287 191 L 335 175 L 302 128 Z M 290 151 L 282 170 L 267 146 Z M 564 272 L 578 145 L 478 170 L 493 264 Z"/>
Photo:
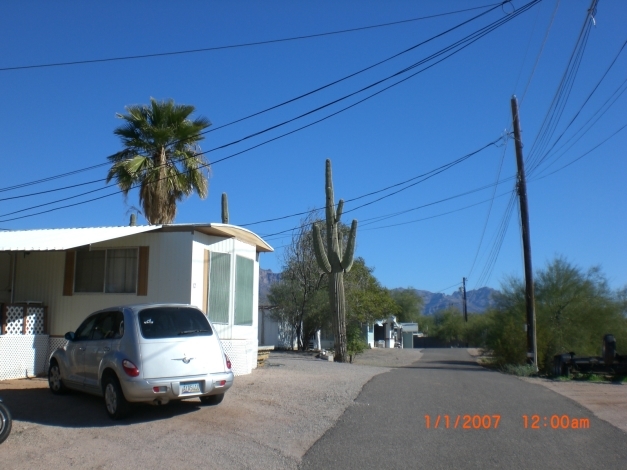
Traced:
<path id="1" fill-rule="evenodd" d="M 76 252 L 74 292 L 137 292 L 137 248 Z"/>

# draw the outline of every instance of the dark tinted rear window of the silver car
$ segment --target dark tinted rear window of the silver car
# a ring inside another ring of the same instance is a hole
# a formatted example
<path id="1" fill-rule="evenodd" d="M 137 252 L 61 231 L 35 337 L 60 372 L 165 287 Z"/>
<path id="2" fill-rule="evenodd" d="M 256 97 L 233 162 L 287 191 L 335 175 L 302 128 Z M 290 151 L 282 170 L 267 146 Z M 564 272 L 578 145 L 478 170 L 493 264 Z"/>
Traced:
<path id="1" fill-rule="evenodd" d="M 207 317 L 190 307 L 153 307 L 139 312 L 142 336 L 176 338 L 180 336 L 210 336 L 213 334 Z"/>

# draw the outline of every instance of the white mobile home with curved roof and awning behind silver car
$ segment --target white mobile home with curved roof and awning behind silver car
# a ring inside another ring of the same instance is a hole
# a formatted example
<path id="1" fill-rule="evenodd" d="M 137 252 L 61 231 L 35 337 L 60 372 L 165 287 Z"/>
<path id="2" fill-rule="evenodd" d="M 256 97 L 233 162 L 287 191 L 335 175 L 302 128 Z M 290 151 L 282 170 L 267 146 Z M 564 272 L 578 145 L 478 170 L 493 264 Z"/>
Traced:
<path id="1" fill-rule="evenodd" d="M 228 224 L 0 232 L 0 380 L 44 372 L 91 312 L 189 303 L 213 322 L 236 375 L 257 363 L 259 254 L 272 247 Z"/>

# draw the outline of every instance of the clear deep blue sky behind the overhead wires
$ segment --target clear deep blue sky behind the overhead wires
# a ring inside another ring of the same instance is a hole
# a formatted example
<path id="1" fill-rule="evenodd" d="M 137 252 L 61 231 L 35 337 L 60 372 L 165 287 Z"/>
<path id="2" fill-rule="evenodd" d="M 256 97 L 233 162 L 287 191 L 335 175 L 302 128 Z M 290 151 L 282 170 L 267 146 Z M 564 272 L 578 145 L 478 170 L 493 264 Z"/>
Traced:
<path id="1" fill-rule="evenodd" d="M 515 0 L 498 6 L 349 80 L 211 132 L 201 142 L 202 149 L 240 140 L 354 93 L 491 22 L 508 18 L 526 3 Z M 488 2 L 477 0 L 3 2 L 0 69 L 238 45 L 485 5 Z M 440 63 L 425 63 L 434 64 L 431 68 L 320 123 L 217 162 L 329 116 L 420 67 L 292 123 L 208 153 L 207 158 L 216 162 L 209 197 L 192 196 L 180 204 L 176 223 L 219 222 L 220 195 L 227 192 L 231 223 L 266 237 L 276 251 L 261 256 L 261 267 L 277 272 L 283 247 L 290 241 L 289 229 L 302 216 L 248 224 L 320 207 L 326 158 L 333 162 L 337 202 L 340 197 L 354 199 L 396 185 L 496 142 L 412 187 L 396 186 L 348 202 L 343 221 L 359 221 L 356 255 L 375 268 L 386 287 L 451 292 L 462 277 L 468 277 L 469 289 L 498 288 L 505 276 L 522 276 L 523 272 L 518 206 L 506 217 L 515 174 L 513 140 L 506 137 L 511 132 L 510 98 L 516 94 L 529 173 L 534 268 L 564 256 L 584 269 L 600 265 L 613 288 L 627 285 L 627 129 L 623 128 L 627 93 L 622 93 L 627 50 L 618 55 L 586 102 L 627 40 L 627 3 L 601 1 L 594 20 L 586 19 L 589 5 L 589 0 L 544 0 Z M 124 112 L 127 105 L 147 103 L 150 97 L 172 98 L 194 105 L 215 128 L 391 57 L 488 8 L 265 45 L 0 70 L 0 187 L 104 163 L 107 155 L 121 148 L 113 135 L 120 125 L 115 114 Z M 583 54 L 580 64 L 567 75 L 565 83 L 572 86 L 560 95 L 561 113 L 553 113 L 552 100 L 585 21 L 593 25 L 585 47 L 577 49 Z M 547 116 L 551 125 L 542 140 L 538 136 Z M 2 191 L 0 199 L 105 175 L 106 167 L 99 167 Z M 497 180 L 504 181 L 495 187 Z M 28 209 L 100 188 L 105 188 L 104 183 L 0 200 L 0 228 L 128 224 L 132 206 L 139 207 L 133 192 L 127 200 L 116 194 L 32 215 L 112 193 L 114 186 Z M 357 208 L 367 202 L 372 203 Z M 22 212 L 7 215 L 15 211 Z M 29 217 L 14 219 L 24 215 Z M 140 222 L 145 223 L 141 217 Z M 498 243 L 503 226 L 507 231 Z"/>

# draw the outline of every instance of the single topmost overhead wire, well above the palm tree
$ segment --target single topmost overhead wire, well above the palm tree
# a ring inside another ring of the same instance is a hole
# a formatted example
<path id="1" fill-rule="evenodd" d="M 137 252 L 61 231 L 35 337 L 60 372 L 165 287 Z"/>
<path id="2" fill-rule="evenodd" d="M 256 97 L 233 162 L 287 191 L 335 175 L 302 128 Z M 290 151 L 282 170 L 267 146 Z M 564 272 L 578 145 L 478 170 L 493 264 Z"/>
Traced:
<path id="1" fill-rule="evenodd" d="M 183 54 L 196 54 L 200 52 L 219 51 L 219 50 L 224 50 L 224 49 L 237 49 L 237 48 L 242 48 L 242 47 L 261 46 L 265 44 L 276 44 L 276 43 L 281 43 L 281 42 L 297 41 L 297 40 L 302 40 L 302 39 L 311 39 L 311 38 L 323 37 L 323 36 L 332 36 L 336 34 L 352 33 L 352 32 L 363 31 L 367 29 L 383 28 L 383 27 L 394 26 L 394 25 L 403 24 L 403 23 L 411 23 L 414 21 L 422 21 L 422 20 L 428 20 L 432 18 L 438 18 L 441 16 L 464 13 L 464 12 L 472 11 L 472 10 L 481 10 L 483 8 L 488 8 L 488 7 L 498 8 L 499 6 L 505 3 L 509 3 L 509 0 L 504 1 L 504 2 L 499 2 L 499 3 L 491 3 L 489 5 L 483 5 L 483 6 L 473 7 L 473 8 L 465 8 L 462 10 L 450 11 L 446 13 L 438 13 L 438 14 L 430 15 L 430 16 L 422 16 L 422 17 L 410 18 L 406 20 L 391 21 L 388 23 L 361 26 L 357 28 L 348 28 L 348 29 L 342 29 L 338 31 L 327 31 L 325 33 L 307 34 L 307 35 L 302 35 L 302 36 L 292 36 L 292 37 L 280 38 L 280 39 L 269 39 L 266 41 L 255 41 L 255 42 L 247 42 L 247 43 L 241 43 L 241 44 L 231 44 L 231 45 L 226 45 L 226 46 L 214 46 L 214 47 L 204 47 L 204 48 L 199 48 L 199 49 L 188 49 L 188 50 L 183 50 L 183 51 L 157 52 L 157 53 L 152 53 L 152 54 L 109 57 L 109 58 L 104 58 L 104 59 L 86 59 L 86 60 L 76 60 L 76 61 L 68 61 L 68 62 L 55 62 L 55 63 L 48 63 L 48 64 L 2 67 L 0 68 L 0 72 L 6 72 L 10 70 L 37 69 L 37 68 L 46 68 L 46 67 L 63 67 L 63 66 L 69 66 L 69 65 L 83 65 L 83 64 L 101 63 L 101 62 L 116 62 L 116 61 L 121 61 L 121 60 L 136 60 L 136 59 L 146 59 L 146 58 L 151 58 L 151 57 L 164 57 L 164 56 L 174 56 L 174 55 L 183 55 Z"/>

